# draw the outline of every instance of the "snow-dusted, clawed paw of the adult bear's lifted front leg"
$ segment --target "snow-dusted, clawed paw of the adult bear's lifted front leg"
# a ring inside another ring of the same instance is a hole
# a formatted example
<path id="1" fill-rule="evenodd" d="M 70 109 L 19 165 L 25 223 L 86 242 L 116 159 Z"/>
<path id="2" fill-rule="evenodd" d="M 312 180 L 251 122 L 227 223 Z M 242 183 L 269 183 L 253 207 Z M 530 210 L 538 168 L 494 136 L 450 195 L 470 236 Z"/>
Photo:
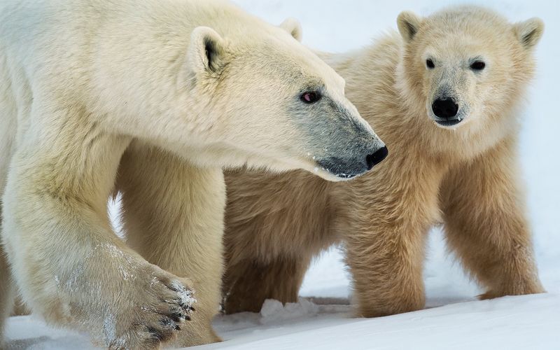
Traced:
<path id="1" fill-rule="evenodd" d="M 196 300 L 188 279 L 152 272 L 144 286 L 136 286 L 132 309 L 104 320 L 105 343 L 109 349 L 158 349 L 174 339 L 184 322 L 190 321 Z M 131 295 L 132 296 L 132 295 Z"/>

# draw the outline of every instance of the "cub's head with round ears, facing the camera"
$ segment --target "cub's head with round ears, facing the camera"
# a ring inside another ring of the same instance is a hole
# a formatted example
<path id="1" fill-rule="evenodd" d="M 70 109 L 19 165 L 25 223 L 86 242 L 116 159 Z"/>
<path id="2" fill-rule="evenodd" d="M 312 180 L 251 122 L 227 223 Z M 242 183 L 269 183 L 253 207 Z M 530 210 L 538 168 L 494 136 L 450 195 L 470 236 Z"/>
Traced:
<path id="1" fill-rule="evenodd" d="M 533 76 L 532 49 L 543 25 L 510 25 L 488 10 L 463 7 L 428 18 L 401 13 L 398 28 L 405 41 L 401 69 L 428 118 L 447 129 L 482 130 L 508 122 L 504 112 Z"/>

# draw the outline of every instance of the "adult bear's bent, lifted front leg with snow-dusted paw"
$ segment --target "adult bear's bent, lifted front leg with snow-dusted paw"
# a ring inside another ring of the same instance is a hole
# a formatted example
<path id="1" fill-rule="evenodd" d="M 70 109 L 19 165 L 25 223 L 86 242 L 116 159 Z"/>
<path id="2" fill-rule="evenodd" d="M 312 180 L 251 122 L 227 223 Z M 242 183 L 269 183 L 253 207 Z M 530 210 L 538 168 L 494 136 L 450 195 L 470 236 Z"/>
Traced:
<path id="1" fill-rule="evenodd" d="M 189 318 L 190 281 L 127 248 L 106 202 L 129 140 L 35 98 L 3 195 L 3 239 L 31 309 L 111 349 L 152 349 Z"/>

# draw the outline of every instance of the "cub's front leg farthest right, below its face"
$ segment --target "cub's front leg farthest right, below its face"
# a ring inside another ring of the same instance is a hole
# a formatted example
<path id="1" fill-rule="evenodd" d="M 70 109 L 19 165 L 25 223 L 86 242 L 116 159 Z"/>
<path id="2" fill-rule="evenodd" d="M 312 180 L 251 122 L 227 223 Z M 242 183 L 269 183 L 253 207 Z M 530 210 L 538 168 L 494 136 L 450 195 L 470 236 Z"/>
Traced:
<path id="1" fill-rule="evenodd" d="M 514 139 L 507 139 L 454 169 L 442 187 L 447 242 L 487 288 L 483 298 L 544 291 L 514 150 Z"/>

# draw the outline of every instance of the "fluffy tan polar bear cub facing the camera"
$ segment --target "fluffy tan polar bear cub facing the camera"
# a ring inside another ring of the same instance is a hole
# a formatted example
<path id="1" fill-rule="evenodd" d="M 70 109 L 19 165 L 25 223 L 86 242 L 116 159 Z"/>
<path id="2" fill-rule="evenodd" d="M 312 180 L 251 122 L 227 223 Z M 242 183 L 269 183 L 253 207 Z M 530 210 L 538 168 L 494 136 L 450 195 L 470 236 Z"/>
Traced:
<path id="1" fill-rule="evenodd" d="M 449 8 L 402 13 L 398 29 L 326 57 L 393 150 L 388 161 L 347 184 L 226 174 L 226 311 L 293 302 L 311 258 L 339 240 L 359 314 L 420 309 L 426 235 L 441 214 L 483 297 L 542 292 L 517 171 L 517 109 L 542 22 Z"/>

